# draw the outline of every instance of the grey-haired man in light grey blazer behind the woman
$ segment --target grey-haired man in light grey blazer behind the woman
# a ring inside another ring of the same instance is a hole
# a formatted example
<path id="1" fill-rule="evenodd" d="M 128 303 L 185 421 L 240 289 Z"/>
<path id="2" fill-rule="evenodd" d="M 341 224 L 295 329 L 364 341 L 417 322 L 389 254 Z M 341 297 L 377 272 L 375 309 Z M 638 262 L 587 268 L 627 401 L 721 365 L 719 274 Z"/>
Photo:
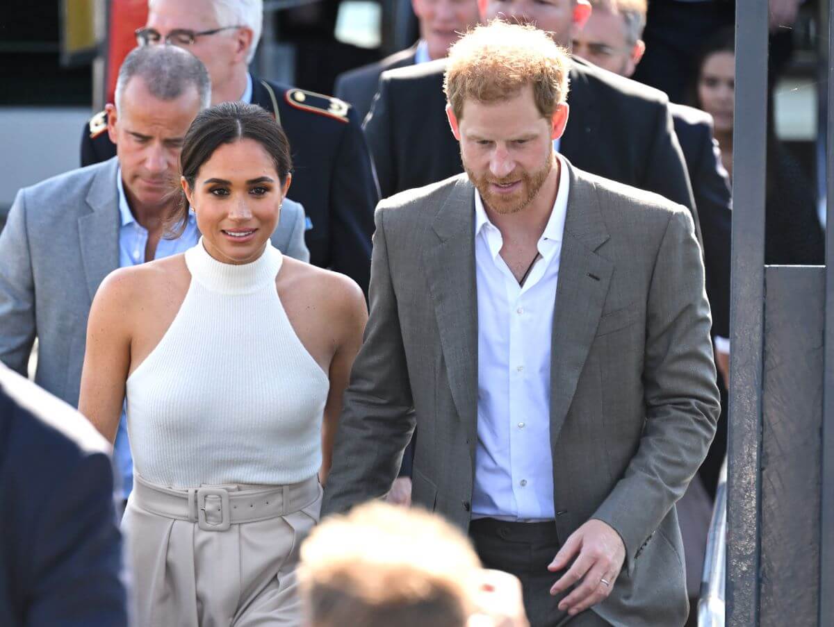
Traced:
<path id="1" fill-rule="evenodd" d="M 35 380 L 68 404 L 78 405 L 87 319 L 103 278 L 197 243 L 193 216 L 173 239 L 165 237 L 165 218 L 176 204 L 171 180 L 185 132 L 210 98 L 208 73 L 193 55 L 173 46 L 134 49 L 108 105 L 118 156 L 24 188 L 15 199 L 0 233 L 0 361 L 25 374 L 38 338 Z M 309 259 L 297 203 L 284 203 L 273 242 Z M 114 458 L 127 499 L 133 461 L 123 428 Z"/>

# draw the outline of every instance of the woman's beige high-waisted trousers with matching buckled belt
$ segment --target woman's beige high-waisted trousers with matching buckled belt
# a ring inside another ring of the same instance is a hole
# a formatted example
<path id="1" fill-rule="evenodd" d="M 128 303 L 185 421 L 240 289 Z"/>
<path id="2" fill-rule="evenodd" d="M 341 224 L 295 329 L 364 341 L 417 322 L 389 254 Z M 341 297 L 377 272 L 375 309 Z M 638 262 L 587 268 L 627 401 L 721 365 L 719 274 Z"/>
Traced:
<path id="1" fill-rule="evenodd" d="M 317 477 L 171 489 L 134 475 L 122 520 L 134 624 L 301 624 L 294 570 L 321 499 Z"/>

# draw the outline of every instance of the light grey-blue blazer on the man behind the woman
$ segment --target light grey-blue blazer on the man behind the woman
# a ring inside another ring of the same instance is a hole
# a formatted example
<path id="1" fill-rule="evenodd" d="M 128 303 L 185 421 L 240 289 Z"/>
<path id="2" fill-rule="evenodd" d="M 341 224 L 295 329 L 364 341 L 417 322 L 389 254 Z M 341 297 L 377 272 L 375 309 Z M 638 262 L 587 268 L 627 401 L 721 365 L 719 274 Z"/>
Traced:
<path id="1" fill-rule="evenodd" d="M 18 192 L 0 233 L 0 361 L 25 374 L 38 338 L 35 381 L 78 405 L 87 317 L 118 268 L 117 158 Z M 309 260 L 304 209 L 284 201 L 276 248 Z"/>

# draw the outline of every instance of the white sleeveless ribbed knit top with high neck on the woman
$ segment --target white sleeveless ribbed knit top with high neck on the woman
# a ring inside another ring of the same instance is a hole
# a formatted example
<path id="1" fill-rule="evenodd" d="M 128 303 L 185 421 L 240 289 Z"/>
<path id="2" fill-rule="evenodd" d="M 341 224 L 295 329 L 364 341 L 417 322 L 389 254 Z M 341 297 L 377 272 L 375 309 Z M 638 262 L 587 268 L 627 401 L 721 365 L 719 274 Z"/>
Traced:
<path id="1" fill-rule="evenodd" d="M 202 238 L 186 251 L 183 304 L 127 382 L 144 479 L 197 488 L 292 484 L 318 472 L 329 379 L 284 312 L 282 262 L 269 243 L 244 265 L 217 261 Z"/>

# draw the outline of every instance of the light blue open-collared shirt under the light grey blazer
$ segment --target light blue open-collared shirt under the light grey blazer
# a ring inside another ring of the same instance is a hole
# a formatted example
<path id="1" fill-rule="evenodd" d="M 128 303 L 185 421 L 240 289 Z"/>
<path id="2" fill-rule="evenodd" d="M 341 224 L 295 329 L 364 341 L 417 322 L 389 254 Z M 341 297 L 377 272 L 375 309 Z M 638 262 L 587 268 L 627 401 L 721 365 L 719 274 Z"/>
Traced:
<path id="1" fill-rule="evenodd" d="M 148 244 L 148 230 L 139 224 L 136 218 L 133 218 L 133 213 L 128 207 L 128 198 L 124 195 L 122 184 L 122 168 L 118 168 L 116 187 L 118 188 L 118 213 L 122 218 L 122 225 L 118 229 L 118 267 L 128 268 L 144 263 L 145 246 Z M 189 211 L 188 223 L 185 225 L 183 234 L 176 239 L 161 238 L 153 258 L 161 259 L 177 253 L 184 253 L 198 242 L 199 237 L 197 220 L 194 218 L 193 212 Z M 122 497 L 127 499 L 131 489 L 133 489 L 133 457 L 130 454 L 124 406 L 122 407 L 122 418 L 118 423 L 116 442 L 113 444 L 113 459 L 116 461 L 116 467 L 123 480 Z"/>

